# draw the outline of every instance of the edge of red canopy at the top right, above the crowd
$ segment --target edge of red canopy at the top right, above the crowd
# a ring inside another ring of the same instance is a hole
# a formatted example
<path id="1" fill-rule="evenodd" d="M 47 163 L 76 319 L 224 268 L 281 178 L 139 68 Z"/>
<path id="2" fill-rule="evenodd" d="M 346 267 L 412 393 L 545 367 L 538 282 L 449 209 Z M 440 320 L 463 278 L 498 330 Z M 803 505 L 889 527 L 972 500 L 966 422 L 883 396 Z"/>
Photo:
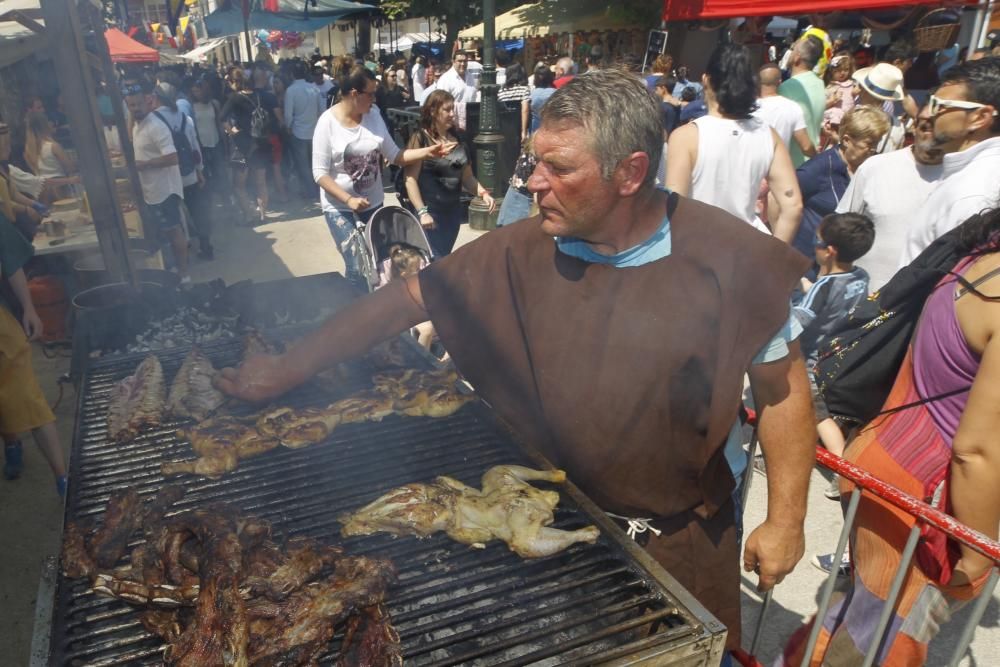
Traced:
<path id="1" fill-rule="evenodd" d="M 728 19 L 741 16 L 797 16 L 913 5 L 941 5 L 940 0 L 664 0 L 664 21 Z M 976 4 L 964 2 L 959 4 Z"/>

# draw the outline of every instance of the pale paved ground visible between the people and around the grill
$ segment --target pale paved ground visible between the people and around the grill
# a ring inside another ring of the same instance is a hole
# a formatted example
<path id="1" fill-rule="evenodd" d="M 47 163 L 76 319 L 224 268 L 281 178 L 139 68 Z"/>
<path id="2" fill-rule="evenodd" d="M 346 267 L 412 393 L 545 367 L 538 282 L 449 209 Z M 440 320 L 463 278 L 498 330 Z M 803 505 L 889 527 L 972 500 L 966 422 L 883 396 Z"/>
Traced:
<path id="1" fill-rule="evenodd" d="M 327 271 L 342 271 L 343 262 L 316 206 L 289 206 L 288 212 L 274 215 L 265 225 L 237 227 L 230 221 L 216 224 L 216 259 L 197 261 L 192 267 L 195 281 L 222 278 L 227 283 L 253 279 L 275 280 Z M 467 243 L 479 233 L 463 228 L 459 243 Z M 68 357 L 46 358 L 36 348 L 36 369 L 50 401 L 59 393 L 56 380 L 69 367 Z M 72 437 L 76 395 L 66 387 L 56 411 L 60 433 L 67 451 Z M 58 550 L 62 508 L 48 469 L 34 445 L 25 443 L 26 471 L 15 482 L 0 480 L 0 664 L 25 665 L 28 662 L 38 576 L 45 556 Z M 823 497 L 827 480 L 817 471 L 810 489 L 806 534 L 806 556 L 795 572 L 774 596 L 758 658 L 770 663 L 783 641 L 815 611 L 823 575 L 809 564 L 816 552 L 828 552 L 836 544 L 841 526 L 840 506 Z M 754 475 L 746 508 L 749 531 L 766 513 L 765 478 Z M 734 564 L 735 566 L 735 564 Z M 749 648 L 760 597 L 753 584 L 744 580 L 744 645 Z M 962 614 L 959 621 L 964 620 Z M 928 664 L 944 665 L 960 631 L 957 623 L 946 627 L 932 645 Z M 979 628 L 970 654 L 963 665 L 1000 664 L 1000 596 L 994 595 L 983 625 Z"/>

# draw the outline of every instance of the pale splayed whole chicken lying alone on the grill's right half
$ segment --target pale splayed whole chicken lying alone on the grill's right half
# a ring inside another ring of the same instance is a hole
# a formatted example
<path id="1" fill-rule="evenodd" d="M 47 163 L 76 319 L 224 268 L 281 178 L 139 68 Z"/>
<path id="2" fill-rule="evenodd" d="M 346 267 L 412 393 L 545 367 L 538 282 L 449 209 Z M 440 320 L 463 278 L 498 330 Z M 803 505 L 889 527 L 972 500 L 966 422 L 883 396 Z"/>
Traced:
<path id="1" fill-rule="evenodd" d="M 483 475 L 481 491 L 450 477 L 438 477 L 431 484 L 408 484 L 341 516 L 341 534 L 426 537 L 443 530 L 453 540 L 479 548 L 490 540 L 503 540 L 523 558 L 548 556 L 577 542 L 597 540 L 600 531 L 594 526 L 549 528 L 559 494 L 536 489 L 528 484 L 530 480 L 564 482 L 566 473 L 495 466 Z"/>

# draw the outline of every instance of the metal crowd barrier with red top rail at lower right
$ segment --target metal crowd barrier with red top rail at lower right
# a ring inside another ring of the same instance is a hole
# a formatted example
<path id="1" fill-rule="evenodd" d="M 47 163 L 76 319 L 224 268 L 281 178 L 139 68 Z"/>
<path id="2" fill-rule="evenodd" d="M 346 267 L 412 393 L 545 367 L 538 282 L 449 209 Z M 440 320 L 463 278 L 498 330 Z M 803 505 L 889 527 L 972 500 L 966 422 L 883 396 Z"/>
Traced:
<path id="1" fill-rule="evenodd" d="M 747 497 L 750 493 L 750 483 L 753 477 L 754 468 L 753 461 L 757 453 L 757 444 L 757 429 L 754 428 L 753 435 L 750 438 L 750 465 L 747 466 L 747 471 L 743 479 L 744 507 L 746 506 Z M 969 620 L 966 622 L 965 627 L 962 629 L 958 644 L 955 646 L 955 650 L 952 652 L 951 659 L 948 662 L 949 667 L 957 667 L 959 661 L 962 659 L 962 656 L 965 655 L 966 650 L 969 648 L 969 644 L 972 643 L 972 636 L 975 634 L 979 621 L 982 620 L 983 613 L 986 611 L 986 606 L 989 604 L 990 598 L 993 595 L 993 589 L 996 587 L 998 578 L 1000 578 L 1000 569 L 997 567 L 997 565 L 1000 565 L 1000 542 L 991 540 L 982 533 L 972 530 L 968 526 L 955 520 L 954 517 L 931 507 L 927 503 L 918 500 L 913 496 L 903 493 L 891 484 L 887 484 L 882 480 L 876 479 L 865 470 L 849 463 L 848 461 L 845 461 L 835 454 L 831 454 L 821 446 L 816 447 L 816 461 L 822 467 L 840 475 L 845 479 L 849 479 L 856 485 L 854 491 L 851 492 L 851 497 L 847 504 L 847 510 L 844 514 L 844 527 L 840 531 L 840 538 L 837 540 L 837 548 L 833 554 L 834 564 L 841 562 L 844 550 L 847 548 L 848 538 L 850 537 L 851 529 L 854 527 L 854 519 L 857 516 L 858 505 L 861 502 L 862 493 L 870 493 L 874 496 L 878 496 L 898 509 L 907 512 L 917 520 L 913 528 L 910 530 L 910 535 L 907 539 L 906 546 L 903 549 L 902 557 L 900 559 L 899 568 L 896 570 L 896 574 L 893 577 L 892 585 L 889 590 L 889 595 L 886 598 L 886 604 L 882 609 L 875 632 L 872 634 L 873 637 L 877 637 L 878 639 L 877 641 L 872 641 L 872 645 L 868 648 L 868 652 L 865 655 L 865 659 L 861 667 L 871 667 L 871 665 L 875 664 L 875 658 L 885 642 L 889 629 L 889 621 L 895 613 L 897 598 L 899 597 L 899 592 L 903 587 L 906 572 L 910 567 L 911 561 L 913 560 L 913 554 L 917 548 L 917 542 L 920 538 L 920 528 L 922 524 L 928 524 L 944 531 L 944 533 L 951 539 L 961 542 L 962 544 L 976 550 L 994 562 L 995 565 L 986 580 L 986 585 L 983 587 L 979 596 L 973 601 L 972 613 Z M 826 581 L 823 583 L 823 588 L 820 592 L 819 607 L 816 611 L 816 622 L 812 624 L 812 630 L 809 633 L 809 640 L 806 643 L 805 653 L 803 654 L 804 657 L 802 659 L 802 667 L 806 667 L 809 664 L 812 659 L 813 652 L 816 650 L 816 643 L 819 640 L 819 633 L 822 629 L 822 619 L 829 609 L 830 599 L 833 596 L 833 589 L 836 584 L 836 580 L 837 568 L 833 567 L 831 568 Z M 744 667 L 761 667 L 761 663 L 755 656 L 757 648 L 760 645 L 761 631 L 764 627 L 764 620 L 767 616 L 768 609 L 771 606 L 773 593 L 774 589 L 768 591 L 764 596 L 760 615 L 757 618 L 757 628 L 754 631 L 753 641 L 750 644 L 749 653 L 740 650 L 734 651 L 732 654 L 735 661 Z"/>

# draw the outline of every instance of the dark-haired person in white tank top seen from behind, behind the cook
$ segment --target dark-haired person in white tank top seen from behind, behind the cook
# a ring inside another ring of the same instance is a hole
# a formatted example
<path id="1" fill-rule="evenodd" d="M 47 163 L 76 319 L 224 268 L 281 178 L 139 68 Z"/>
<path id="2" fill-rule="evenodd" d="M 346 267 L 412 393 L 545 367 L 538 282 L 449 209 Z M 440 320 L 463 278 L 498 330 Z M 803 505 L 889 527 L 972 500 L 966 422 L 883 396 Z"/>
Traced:
<path id="1" fill-rule="evenodd" d="M 757 108 L 754 73 L 744 46 L 724 44 L 712 53 L 702 76 L 708 115 L 670 135 L 667 187 L 788 243 L 799 226 L 802 197 L 784 142 L 752 115 Z M 770 230 L 755 211 L 762 181 L 780 206 Z"/>

